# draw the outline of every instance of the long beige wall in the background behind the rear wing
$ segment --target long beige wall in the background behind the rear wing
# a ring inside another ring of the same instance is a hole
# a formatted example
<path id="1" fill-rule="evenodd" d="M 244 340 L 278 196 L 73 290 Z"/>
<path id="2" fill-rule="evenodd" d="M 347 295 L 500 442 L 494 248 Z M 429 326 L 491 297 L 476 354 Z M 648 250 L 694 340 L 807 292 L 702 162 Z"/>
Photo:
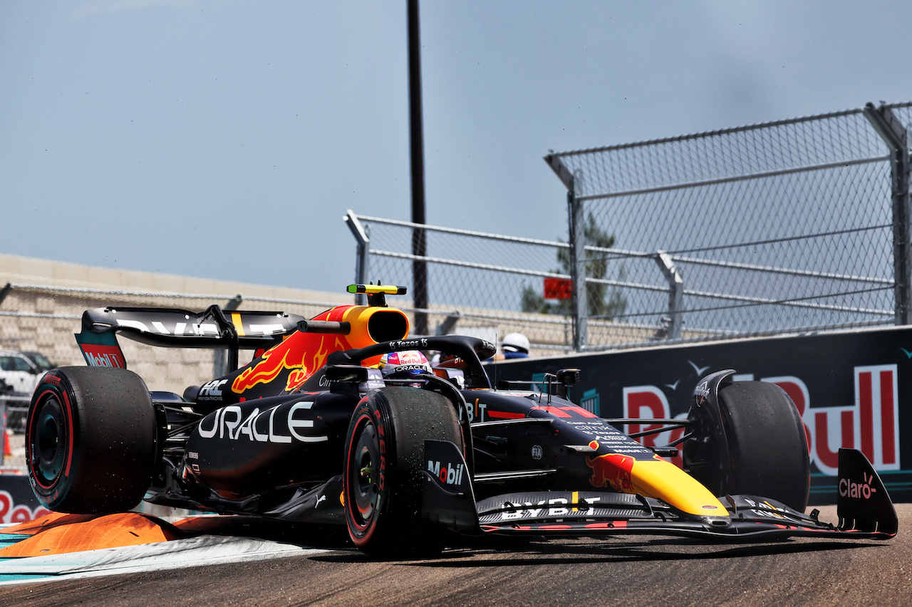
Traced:
<path id="1" fill-rule="evenodd" d="M 0 255 L 0 287 L 12 288 L 0 302 L 0 348 L 44 353 L 57 365 L 85 365 L 74 333 L 84 310 L 106 305 L 150 305 L 199 311 L 227 304 L 240 293 L 240 309 L 319 314 L 351 304 L 348 293 L 324 293 L 231 283 L 172 274 L 131 272 L 75 263 Z M 251 299 L 253 298 L 253 299 Z M 262 301 L 277 300 L 277 301 Z M 258 301 L 259 300 L 259 301 Z M 181 393 L 212 379 L 213 353 L 203 349 L 153 348 L 120 338 L 128 367 L 152 390 Z M 250 359 L 247 353 L 244 362 Z"/>

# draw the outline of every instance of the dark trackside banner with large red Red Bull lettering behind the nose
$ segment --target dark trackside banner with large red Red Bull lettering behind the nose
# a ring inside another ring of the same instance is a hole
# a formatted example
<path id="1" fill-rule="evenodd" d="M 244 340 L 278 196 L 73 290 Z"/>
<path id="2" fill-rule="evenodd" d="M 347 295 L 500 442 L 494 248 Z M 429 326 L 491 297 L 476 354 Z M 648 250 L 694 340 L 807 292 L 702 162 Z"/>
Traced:
<path id="1" fill-rule="evenodd" d="M 812 463 L 811 503 L 834 503 L 837 453 L 859 448 L 894 501 L 912 499 L 912 327 L 657 346 L 494 365 L 499 380 L 577 367 L 571 399 L 600 417 L 686 418 L 698 380 L 733 369 L 772 382 L 801 413 Z M 647 427 L 627 427 L 628 433 Z M 684 430 L 644 437 L 667 445 Z"/>

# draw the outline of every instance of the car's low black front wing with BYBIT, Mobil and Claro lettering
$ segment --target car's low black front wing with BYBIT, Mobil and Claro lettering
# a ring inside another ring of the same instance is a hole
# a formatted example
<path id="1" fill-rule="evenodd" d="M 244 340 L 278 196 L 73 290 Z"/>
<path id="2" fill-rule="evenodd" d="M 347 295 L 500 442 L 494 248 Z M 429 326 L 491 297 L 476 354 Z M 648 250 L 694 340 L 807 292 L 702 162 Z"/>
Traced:
<path id="1" fill-rule="evenodd" d="M 606 491 L 529 491 L 476 502 L 461 453 L 452 443 L 426 441 L 423 513 L 451 530 L 492 535 L 598 536 L 653 534 L 712 541 L 787 537 L 886 540 L 896 535 L 896 510 L 867 459 L 840 449 L 835 524 L 759 496 L 721 498 L 727 517 L 694 517 L 665 502 Z"/>

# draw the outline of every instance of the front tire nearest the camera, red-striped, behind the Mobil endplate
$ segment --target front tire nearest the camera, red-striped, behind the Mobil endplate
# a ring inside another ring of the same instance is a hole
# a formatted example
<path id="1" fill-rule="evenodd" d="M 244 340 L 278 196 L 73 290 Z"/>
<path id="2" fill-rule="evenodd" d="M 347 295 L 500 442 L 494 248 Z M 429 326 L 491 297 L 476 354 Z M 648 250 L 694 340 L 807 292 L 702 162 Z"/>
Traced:
<path id="1" fill-rule="evenodd" d="M 421 518 L 426 438 L 464 452 L 450 401 L 416 387 L 386 387 L 361 399 L 346 439 L 343 495 L 348 534 L 374 558 L 439 554 L 445 530 Z"/>

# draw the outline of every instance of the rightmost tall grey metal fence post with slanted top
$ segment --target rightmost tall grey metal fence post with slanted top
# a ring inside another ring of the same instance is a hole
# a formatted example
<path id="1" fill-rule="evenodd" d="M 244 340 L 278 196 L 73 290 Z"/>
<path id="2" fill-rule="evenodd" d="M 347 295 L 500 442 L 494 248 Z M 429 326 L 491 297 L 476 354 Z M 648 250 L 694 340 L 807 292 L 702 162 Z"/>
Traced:
<path id="1" fill-rule="evenodd" d="M 893 199 L 893 282 L 896 324 L 912 324 L 912 243 L 909 242 L 909 152 L 907 132 L 893 110 L 867 103 L 865 118 L 890 149 Z"/>

